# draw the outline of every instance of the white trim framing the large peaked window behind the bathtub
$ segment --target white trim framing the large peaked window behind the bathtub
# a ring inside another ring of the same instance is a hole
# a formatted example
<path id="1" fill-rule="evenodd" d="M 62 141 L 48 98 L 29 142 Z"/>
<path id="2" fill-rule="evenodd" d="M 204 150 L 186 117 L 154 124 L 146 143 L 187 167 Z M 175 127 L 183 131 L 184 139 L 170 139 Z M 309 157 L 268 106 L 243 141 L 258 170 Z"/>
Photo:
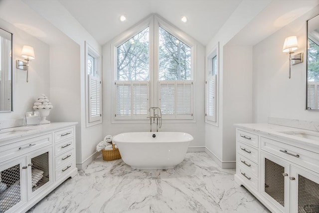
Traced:
<path id="1" fill-rule="evenodd" d="M 111 123 L 148 123 L 149 119 L 146 118 L 145 120 L 118 120 L 115 119 L 115 76 L 116 76 L 116 51 L 117 47 L 121 45 L 123 42 L 127 41 L 134 35 L 136 35 L 138 32 L 144 30 L 146 27 L 150 27 L 149 30 L 154 31 L 154 36 L 150 36 L 150 52 L 149 57 L 150 58 L 158 58 L 158 46 L 156 47 L 153 45 L 154 40 L 159 40 L 159 26 L 168 31 L 173 36 L 177 37 L 179 40 L 181 40 L 183 43 L 188 45 L 191 48 L 191 81 L 193 82 L 192 85 L 192 112 L 193 116 L 192 119 L 168 119 L 165 122 L 166 123 L 196 123 L 196 113 L 195 113 L 195 85 L 196 85 L 196 68 L 197 68 L 197 41 L 184 33 L 183 31 L 179 30 L 177 27 L 173 26 L 172 24 L 168 23 L 165 19 L 160 17 L 157 14 L 151 14 L 150 16 L 143 19 L 141 22 L 130 28 L 129 30 L 125 31 L 124 33 L 117 36 L 114 40 L 111 42 L 111 68 L 112 68 L 112 100 L 114 104 L 112 104 L 112 114 L 111 116 Z M 159 87 L 156 86 L 159 83 L 159 76 L 158 76 L 158 69 L 155 67 L 159 66 L 158 60 L 150 60 L 150 106 L 159 106 Z"/>

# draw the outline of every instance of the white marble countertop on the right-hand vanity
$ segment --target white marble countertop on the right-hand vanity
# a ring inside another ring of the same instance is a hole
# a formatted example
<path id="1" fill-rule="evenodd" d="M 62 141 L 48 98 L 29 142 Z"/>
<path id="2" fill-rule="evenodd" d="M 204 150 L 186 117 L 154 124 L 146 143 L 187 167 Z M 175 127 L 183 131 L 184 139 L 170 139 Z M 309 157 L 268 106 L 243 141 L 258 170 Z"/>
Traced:
<path id="1" fill-rule="evenodd" d="M 310 131 L 305 129 L 280 126 L 275 124 L 263 124 L 263 123 L 235 124 L 235 126 L 240 127 L 242 129 L 249 130 L 249 131 L 254 131 L 256 133 L 262 133 L 265 135 L 270 135 L 273 137 L 289 140 L 297 144 L 302 144 L 306 147 L 311 147 L 316 149 L 316 150 L 313 150 L 315 152 L 319 152 L 319 139 L 318 140 L 316 139 L 316 137 L 319 137 L 319 132 L 317 131 Z M 298 135 L 306 135 L 306 134 L 309 134 L 310 137 L 312 137 L 312 139 L 298 136 Z"/>

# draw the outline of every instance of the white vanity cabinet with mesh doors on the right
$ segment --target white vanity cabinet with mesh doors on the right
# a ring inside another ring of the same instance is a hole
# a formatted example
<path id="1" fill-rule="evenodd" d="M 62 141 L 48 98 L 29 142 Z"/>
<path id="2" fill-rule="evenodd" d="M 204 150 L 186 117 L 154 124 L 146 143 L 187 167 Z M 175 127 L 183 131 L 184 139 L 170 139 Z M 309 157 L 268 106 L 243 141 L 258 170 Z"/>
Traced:
<path id="1" fill-rule="evenodd" d="M 319 213 L 319 141 L 298 143 L 242 125 L 235 181 L 273 213 Z"/>

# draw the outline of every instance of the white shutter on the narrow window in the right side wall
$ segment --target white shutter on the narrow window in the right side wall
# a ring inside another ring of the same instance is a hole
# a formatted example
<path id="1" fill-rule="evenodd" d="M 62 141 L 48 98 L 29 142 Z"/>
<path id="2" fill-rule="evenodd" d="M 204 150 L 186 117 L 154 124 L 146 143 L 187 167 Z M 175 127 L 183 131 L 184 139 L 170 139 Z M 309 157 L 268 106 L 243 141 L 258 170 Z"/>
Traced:
<path id="1" fill-rule="evenodd" d="M 207 120 L 216 122 L 216 75 L 206 81 L 206 112 Z"/>

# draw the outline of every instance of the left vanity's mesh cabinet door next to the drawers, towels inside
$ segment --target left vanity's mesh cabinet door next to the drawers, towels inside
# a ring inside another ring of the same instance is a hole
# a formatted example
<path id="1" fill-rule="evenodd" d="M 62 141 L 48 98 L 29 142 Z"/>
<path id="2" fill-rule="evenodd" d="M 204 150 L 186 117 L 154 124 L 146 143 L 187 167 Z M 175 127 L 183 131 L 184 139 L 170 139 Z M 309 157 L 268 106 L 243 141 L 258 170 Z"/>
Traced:
<path id="1" fill-rule="evenodd" d="M 27 156 L 28 200 L 53 182 L 52 147 L 43 148 Z"/>

